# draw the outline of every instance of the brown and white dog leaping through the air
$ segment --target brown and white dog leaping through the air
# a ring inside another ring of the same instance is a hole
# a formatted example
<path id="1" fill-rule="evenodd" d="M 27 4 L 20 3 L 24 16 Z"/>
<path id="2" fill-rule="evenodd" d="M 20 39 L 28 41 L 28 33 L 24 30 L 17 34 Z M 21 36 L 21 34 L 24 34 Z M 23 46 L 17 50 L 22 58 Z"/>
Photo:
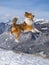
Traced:
<path id="1" fill-rule="evenodd" d="M 18 20 L 18 18 L 16 17 L 14 17 L 12 20 L 11 34 L 15 35 L 16 42 L 18 42 L 21 32 L 26 32 L 26 31 L 32 31 L 33 33 L 40 32 L 34 27 L 34 24 L 33 24 L 34 15 L 32 15 L 32 13 L 25 12 L 24 16 L 25 16 L 25 19 L 22 24 L 16 24 Z"/>

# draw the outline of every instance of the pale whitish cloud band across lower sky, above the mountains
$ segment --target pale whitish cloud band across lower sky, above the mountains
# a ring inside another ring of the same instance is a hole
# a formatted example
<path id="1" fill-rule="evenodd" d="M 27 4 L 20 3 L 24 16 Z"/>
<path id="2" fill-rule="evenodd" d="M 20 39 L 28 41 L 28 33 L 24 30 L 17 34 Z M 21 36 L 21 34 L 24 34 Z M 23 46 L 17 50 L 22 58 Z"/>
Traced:
<path id="1" fill-rule="evenodd" d="M 13 9 L 4 6 L 0 6 L 0 22 L 7 22 L 13 17 L 18 17 L 19 22 L 24 18 L 24 12 L 28 11 L 35 15 L 35 18 L 44 18 L 49 20 L 49 11 L 40 9 L 42 6 L 38 6 L 35 9 Z"/>

